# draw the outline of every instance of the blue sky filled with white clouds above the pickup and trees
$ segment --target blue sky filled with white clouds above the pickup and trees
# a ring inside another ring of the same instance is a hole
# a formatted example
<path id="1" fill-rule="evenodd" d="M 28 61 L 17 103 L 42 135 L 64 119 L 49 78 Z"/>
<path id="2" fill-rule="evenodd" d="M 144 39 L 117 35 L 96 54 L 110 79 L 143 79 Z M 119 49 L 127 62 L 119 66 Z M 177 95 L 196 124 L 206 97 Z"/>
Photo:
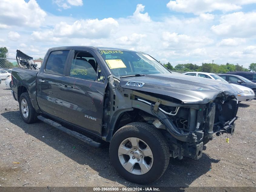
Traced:
<path id="1" fill-rule="evenodd" d="M 256 0 L 2 0 L 0 46 L 34 58 L 50 47 L 120 47 L 161 62 L 256 62 Z"/>

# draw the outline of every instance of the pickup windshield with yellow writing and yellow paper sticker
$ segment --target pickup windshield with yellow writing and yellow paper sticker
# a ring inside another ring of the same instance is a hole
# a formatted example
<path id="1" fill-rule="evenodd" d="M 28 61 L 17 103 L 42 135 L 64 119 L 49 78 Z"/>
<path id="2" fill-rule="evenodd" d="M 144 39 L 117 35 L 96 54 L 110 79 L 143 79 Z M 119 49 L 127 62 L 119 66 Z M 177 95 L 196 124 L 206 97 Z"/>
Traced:
<path id="1" fill-rule="evenodd" d="M 116 78 L 136 74 L 170 73 L 151 56 L 134 51 L 99 50 L 102 58 Z"/>

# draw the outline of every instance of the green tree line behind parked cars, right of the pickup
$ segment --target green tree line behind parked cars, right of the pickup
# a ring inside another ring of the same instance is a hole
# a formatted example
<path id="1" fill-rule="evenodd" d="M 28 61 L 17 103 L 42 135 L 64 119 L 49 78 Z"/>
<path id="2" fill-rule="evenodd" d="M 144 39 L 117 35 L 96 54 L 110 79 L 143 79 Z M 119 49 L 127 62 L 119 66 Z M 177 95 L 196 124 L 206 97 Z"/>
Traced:
<path id="1" fill-rule="evenodd" d="M 175 67 L 171 65 L 170 62 L 163 63 L 163 65 L 169 69 L 169 70 L 175 70 L 175 71 L 197 71 L 197 72 L 209 72 L 209 73 L 226 73 L 229 71 L 253 71 L 256 72 L 256 63 L 251 63 L 249 68 L 243 67 L 243 65 L 237 64 L 221 64 L 218 65 L 216 63 L 202 63 L 201 66 L 192 64 L 192 63 L 186 63 L 186 64 L 177 64 Z"/>

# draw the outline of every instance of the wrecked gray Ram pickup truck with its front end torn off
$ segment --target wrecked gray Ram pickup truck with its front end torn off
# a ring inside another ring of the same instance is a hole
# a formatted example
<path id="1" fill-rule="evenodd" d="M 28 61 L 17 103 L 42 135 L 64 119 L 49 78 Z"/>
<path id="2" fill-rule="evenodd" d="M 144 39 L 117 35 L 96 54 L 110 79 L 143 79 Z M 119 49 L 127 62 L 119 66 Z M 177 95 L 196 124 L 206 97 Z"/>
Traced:
<path id="1" fill-rule="evenodd" d="M 38 70 L 17 50 L 17 62 L 12 94 L 23 120 L 94 147 L 110 143 L 113 167 L 134 183 L 154 182 L 170 157 L 198 160 L 214 135 L 234 133 L 240 89 L 173 74 L 143 52 L 52 48 Z"/>

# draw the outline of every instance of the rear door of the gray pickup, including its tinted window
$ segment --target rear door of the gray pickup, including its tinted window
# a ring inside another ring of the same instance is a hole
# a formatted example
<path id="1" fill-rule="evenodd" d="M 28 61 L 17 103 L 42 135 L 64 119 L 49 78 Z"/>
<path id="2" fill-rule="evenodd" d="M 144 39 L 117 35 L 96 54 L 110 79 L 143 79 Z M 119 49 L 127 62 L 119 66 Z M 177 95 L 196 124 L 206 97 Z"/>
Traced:
<path id="1" fill-rule="evenodd" d="M 44 69 L 36 76 L 37 100 L 39 108 L 54 117 L 63 115 L 62 82 L 67 70 L 70 50 L 52 50 Z"/>

